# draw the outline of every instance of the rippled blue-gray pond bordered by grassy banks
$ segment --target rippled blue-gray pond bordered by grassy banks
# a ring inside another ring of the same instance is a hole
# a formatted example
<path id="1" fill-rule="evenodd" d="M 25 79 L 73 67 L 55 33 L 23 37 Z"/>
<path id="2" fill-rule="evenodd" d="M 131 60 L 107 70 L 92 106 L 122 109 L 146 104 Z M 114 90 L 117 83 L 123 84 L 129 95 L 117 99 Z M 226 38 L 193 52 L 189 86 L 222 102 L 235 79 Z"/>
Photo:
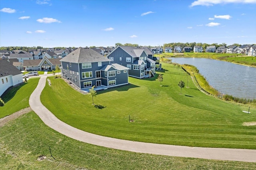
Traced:
<path id="1" fill-rule="evenodd" d="M 256 99 L 256 68 L 206 58 L 171 57 L 172 62 L 198 68 L 208 83 L 220 93 Z"/>

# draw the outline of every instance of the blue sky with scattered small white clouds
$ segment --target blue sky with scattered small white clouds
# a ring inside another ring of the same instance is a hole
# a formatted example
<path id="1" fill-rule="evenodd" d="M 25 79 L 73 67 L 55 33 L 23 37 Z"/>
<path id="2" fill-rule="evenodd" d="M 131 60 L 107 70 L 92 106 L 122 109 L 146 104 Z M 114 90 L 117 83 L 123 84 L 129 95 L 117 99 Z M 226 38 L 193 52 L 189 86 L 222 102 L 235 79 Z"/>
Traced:
<path id="1" fill-rule="evenodd" d="M 0 0 L 0 46 L 256 43 L 256 0 Z"/>

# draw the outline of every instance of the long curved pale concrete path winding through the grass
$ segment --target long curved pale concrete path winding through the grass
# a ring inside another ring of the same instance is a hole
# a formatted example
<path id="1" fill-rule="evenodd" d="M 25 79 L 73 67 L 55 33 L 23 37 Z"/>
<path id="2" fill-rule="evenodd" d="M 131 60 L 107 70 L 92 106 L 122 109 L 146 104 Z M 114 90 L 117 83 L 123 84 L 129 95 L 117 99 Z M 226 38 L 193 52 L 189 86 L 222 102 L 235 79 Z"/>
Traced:
<path id="1" fill-rule="evenodd" d="M 159 154 L 167 156 L 180 156 L 190 158 L 203 158 L 214 160 L 231 160 L 243 162 L 256 162 L 256 150 L 250 149 L 229 149 L 229 148 L 200 148 L 188 146 L 176 146 L 167 144 L 154 144 L 145 142 L 133 142 L 116 138 L 104 137 L 77 128 L 60 121 L 40 101 L 40 94 L 46 85 L 46 78 L 42 76 L 38 86 L 29 99 L 31 109 L 50 128 L 70 138 L 119 150 L 140 152 L 147 154 Z"/>

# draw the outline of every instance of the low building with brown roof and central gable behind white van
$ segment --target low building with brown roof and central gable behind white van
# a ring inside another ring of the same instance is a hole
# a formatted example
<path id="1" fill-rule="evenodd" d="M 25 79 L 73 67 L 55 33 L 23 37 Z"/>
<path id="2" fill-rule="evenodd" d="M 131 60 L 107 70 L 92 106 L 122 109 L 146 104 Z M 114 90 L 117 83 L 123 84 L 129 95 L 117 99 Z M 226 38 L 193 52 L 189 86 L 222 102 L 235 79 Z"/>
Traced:
<path id="1" fill-rule="evenodd" d="M 60 58 L 48 59 L 46 56 L 43 59 L 24 60 L 23 67 L 27 71 L 42 71 L 54 70 L 55 66 L 61 67 Z"/>

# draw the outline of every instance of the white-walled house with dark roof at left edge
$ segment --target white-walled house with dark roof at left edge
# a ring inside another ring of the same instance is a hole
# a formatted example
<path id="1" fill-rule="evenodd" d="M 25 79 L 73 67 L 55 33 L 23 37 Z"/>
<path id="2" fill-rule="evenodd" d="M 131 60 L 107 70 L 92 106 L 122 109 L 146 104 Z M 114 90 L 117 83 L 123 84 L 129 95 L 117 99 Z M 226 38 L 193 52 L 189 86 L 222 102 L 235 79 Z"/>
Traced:
<path id="1" fill-rule="evenodd" d="M 9 88 L 23 82 L 22 72 L 7 59 L 0 60 L 0 96 Z"/>

